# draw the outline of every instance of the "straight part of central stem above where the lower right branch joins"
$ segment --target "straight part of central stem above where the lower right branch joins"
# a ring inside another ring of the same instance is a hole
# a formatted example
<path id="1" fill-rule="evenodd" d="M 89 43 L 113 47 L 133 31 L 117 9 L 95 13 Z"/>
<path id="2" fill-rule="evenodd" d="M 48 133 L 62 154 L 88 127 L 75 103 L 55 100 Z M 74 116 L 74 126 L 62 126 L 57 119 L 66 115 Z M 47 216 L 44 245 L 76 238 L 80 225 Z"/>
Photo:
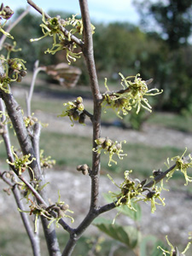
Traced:
<path id="1" fill-rule="evenodd" d="M 102 95 L 99 90 L 98 79 L 96 75 L 96 65 L 93 52 L 93 40 L 92 31 L 90 26 L 90 14 L 88 9 L 88 3 L 86 0 L 79 0 L 81 15 L 84 25 L 84 45 L 82 51 L 84 53 L 84 59 L 86 61 L 89 77 L 90 88 L 92 91 L 94 101 L 94 113 L 93 113 L 93 148 L 96 148 L 95 140 L 100 137 L 101 134 L 101 100 Z M 90 209 L 98 207 L 99 198 L 99 175 L 100 175 L 100 154 L 92 152 L 92 173 L 91 177 L 91 199 Z"/>

